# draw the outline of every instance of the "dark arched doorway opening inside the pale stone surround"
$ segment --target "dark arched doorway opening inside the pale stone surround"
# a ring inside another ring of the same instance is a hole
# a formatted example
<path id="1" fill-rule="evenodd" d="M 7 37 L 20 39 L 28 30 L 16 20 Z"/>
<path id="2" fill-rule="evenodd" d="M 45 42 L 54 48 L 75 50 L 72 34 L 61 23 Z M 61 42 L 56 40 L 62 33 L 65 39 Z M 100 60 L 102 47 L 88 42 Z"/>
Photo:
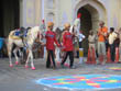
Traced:
<path id="1" fill-rule="evenodd" d="M 84 35 L 86 36 L 85 41 L 82 42 L 84 55 L 87 56 L 88 54 L 88 35 L 89 31 L 92 30 L 95 33 L 98 30 L 98 22 L 99 22 L 99 13 L 98 11 L 91 7 L 90 4 L 86 4 L 78 9 L 78 13 L 81 13 L 80 18 L 80 30 L 82 31 Z"/>

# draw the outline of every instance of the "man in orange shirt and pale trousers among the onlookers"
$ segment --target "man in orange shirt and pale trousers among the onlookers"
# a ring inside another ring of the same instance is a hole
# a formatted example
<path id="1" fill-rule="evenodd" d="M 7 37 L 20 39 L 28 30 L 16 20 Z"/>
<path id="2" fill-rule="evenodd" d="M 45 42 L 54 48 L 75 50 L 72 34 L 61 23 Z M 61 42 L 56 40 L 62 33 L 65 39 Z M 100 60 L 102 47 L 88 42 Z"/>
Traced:
<path id="1" fill-rule="evenodd" d="M 108 29 L 105 26 L 105 22 L 101 21 L 99 23 L 99 31 L 98 31 L 98 57 L 99 57 L 99 62 L 105 65 L 106 64 L 106 38 L 108 34 Z M 103 60 L 105 59 L 105 60 Z"/>

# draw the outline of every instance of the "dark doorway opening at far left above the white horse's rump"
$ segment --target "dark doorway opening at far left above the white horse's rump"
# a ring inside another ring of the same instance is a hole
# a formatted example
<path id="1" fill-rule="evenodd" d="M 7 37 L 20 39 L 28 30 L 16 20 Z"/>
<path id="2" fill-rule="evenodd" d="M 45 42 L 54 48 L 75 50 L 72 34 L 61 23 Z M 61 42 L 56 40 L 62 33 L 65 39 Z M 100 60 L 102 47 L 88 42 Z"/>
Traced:
<path id="1" fill-rule="evenodd" d="M 0 11 L 0 37 L 7 37 L 11 30 L 20 26 L 20 0 L 1 0 Z"/>

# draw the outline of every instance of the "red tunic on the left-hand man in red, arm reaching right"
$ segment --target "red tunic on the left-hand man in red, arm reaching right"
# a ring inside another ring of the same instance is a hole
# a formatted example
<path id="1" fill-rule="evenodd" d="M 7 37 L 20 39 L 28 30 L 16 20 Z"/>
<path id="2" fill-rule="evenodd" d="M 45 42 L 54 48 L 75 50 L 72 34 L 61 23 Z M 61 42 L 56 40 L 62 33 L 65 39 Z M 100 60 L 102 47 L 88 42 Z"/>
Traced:
<path id="1" fill-rule="evenodd" d="M 56 43 L 57 46 L 61 46 L 56 41 L 54 32 L 47 31 L 45 37 L 46 37 L 46 49 L 54 50 L 55 49 L 54 43 Z"/>

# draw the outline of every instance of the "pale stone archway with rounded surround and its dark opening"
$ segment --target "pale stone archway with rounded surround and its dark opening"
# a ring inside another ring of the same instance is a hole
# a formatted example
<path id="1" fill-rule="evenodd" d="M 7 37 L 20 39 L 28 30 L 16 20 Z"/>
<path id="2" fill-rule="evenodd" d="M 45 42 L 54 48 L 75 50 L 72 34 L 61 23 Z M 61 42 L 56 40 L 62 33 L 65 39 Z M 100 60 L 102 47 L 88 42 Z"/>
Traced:
<path id="1" fill-rule="evenodd" d="M 82 42 L 84 54 L 87 56 L 88 53 L 88 34 L 89 31 L 92 30 L 97 33 L 99 26 L 99 21 L 103 20 L 107 23 L 107 13 L 105 7 L 98 2 L 97 0 L 81 0 L 75 3 L 75 18 L 80 12 L 82 14 L 80 21 L 84 34 L 86 35 L 86 39 Z"/>

